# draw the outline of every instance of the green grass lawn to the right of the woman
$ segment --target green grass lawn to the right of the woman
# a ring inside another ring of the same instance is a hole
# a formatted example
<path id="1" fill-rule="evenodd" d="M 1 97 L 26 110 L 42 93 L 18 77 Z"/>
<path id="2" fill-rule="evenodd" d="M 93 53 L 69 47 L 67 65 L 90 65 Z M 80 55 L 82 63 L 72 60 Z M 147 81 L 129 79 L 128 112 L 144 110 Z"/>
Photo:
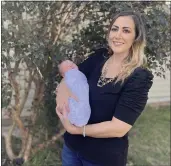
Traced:
<path id="1" fill-rule="evenodd" d="M 170 166 L 170 107 L 147 107 L 129 140 L 128 166 Z"/>

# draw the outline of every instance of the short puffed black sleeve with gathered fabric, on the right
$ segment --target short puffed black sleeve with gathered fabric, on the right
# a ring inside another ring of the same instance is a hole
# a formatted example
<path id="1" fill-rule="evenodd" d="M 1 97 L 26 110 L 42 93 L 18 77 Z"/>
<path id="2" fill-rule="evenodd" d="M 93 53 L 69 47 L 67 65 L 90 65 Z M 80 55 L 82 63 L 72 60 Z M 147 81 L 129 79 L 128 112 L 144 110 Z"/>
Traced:
<path id="1" fill-rule="evenodd" d="M 114 117 L 133 125 L 147 103 L 152 80 L 153 75 L 147 69 L 133 72 L 123 87 Z"/>

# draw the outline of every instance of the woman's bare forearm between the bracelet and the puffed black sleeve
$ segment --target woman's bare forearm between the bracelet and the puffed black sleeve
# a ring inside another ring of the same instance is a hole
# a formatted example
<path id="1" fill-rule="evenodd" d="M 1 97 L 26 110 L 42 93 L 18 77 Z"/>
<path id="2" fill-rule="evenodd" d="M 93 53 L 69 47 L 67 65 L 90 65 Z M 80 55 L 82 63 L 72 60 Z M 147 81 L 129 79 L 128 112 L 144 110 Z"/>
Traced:
<path id="1" fill-rule="evenodd" d="M 83 134 L 83 127 L 79 129 L 79 133 Z M 85 135 L 94 138 L 111 138 L 122 137 L 121 128 L 113 121 L 106 121 L 85 126 Z"/>

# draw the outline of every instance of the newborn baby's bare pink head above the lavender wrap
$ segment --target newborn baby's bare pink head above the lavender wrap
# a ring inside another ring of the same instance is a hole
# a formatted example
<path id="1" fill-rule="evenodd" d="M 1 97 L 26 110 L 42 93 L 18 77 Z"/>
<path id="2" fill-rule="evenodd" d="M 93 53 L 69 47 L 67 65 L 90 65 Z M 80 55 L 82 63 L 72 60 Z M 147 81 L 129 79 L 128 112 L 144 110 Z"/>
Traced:
<path id="1" fill-rule="evenodd" d="M 70 60 L 63 61 L 60 65 L 58 65 L 58 68 L 62 76 L 64 76 L 64 74 L 71 69 L 78 69 L 77 65 Z"/>

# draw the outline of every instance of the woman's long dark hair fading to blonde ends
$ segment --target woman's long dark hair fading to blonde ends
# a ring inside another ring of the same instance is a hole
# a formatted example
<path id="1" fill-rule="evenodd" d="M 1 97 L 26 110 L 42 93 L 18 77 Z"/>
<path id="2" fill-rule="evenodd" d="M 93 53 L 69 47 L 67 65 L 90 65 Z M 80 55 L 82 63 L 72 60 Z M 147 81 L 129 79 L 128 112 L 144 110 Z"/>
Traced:
<path id="1" fill-rule="evenodd" d="M 136 35 L 135 35 L 135 40 L 130 48 L 129 55 L 124 59 L 122 71 L 118 75 L 115 83 L 118 81 L 122 81 L 123 83 L 125 78 L 127 78 L 137 67 L 144 66 L 147 63 L 147 58 L 144 54 L 144 48 L 146 45 L 145 27 L 142 18 L 138 12 L 123 11 L 120 12 L 119 14 L 116 14 L 113 17 L 111 24 L 108 28 L 107 40 L 113 23 L 116 21 L 118 17 L 121 16 L 130 16 L 133 19 L 135 24 Z M 109 54 L 112 55 L 113 53 L 114 52 L 109 47 Z"/>

